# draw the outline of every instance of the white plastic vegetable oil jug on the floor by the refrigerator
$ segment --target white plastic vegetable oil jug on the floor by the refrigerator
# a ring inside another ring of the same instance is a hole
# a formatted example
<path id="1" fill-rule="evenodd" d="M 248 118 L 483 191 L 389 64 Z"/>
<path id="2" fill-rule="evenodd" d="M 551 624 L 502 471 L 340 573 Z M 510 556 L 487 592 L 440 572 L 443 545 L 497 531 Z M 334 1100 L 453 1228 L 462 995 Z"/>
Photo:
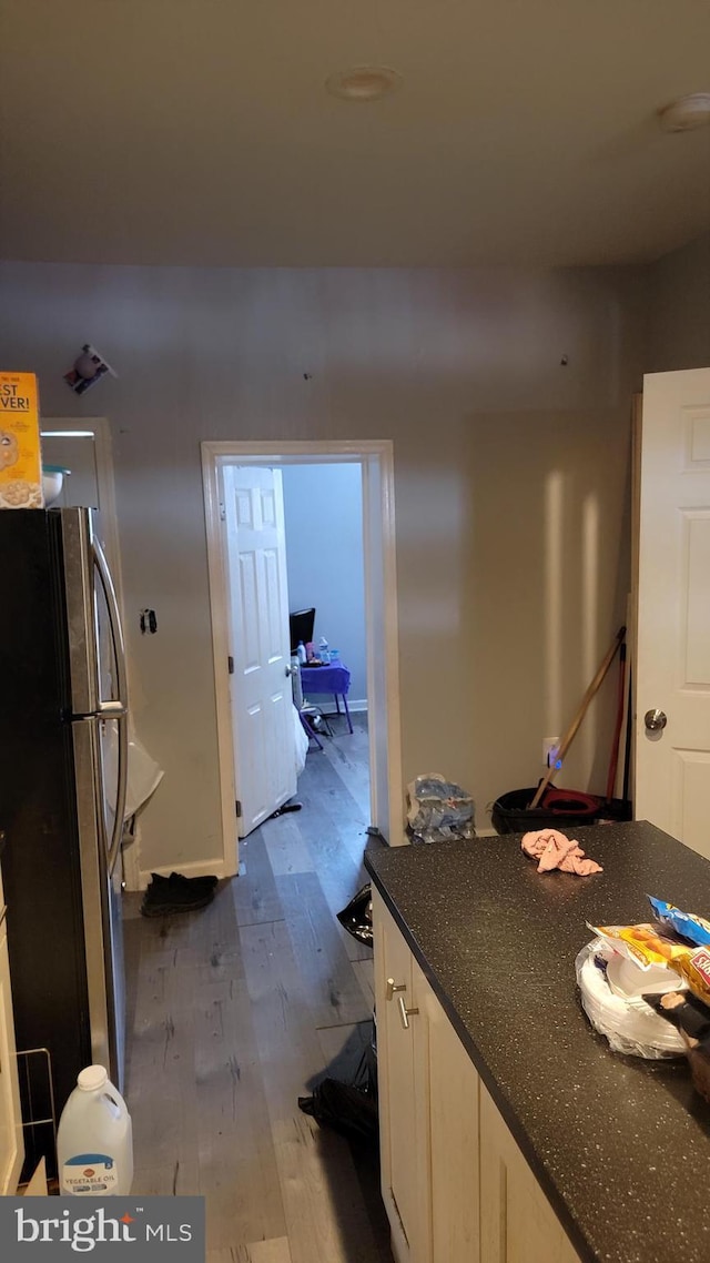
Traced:
<path id="1" fill-rule="evenodd" d="M 104 1066 L 82 1070 L 57 1132 L 63 1196 L 125 1196 L 133 1183 L 133 1127 Z"/>

